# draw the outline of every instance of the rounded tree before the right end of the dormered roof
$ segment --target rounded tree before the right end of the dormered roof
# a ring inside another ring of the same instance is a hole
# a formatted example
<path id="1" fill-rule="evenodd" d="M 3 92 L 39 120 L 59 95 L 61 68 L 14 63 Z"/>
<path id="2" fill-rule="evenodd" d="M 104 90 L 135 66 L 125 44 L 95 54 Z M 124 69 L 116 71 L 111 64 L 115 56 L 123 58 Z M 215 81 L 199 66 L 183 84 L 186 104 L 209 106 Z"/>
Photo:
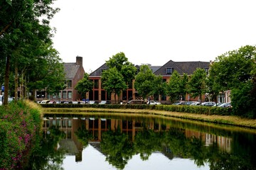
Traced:
<path id="1" fill-rule="evenodd" d="M 202 102 L 202 95 L 206 93 L 206 71 L 204 69 L 196 69 L 188 81 L 188 91 L 193 98 L 199 97 Z"/>

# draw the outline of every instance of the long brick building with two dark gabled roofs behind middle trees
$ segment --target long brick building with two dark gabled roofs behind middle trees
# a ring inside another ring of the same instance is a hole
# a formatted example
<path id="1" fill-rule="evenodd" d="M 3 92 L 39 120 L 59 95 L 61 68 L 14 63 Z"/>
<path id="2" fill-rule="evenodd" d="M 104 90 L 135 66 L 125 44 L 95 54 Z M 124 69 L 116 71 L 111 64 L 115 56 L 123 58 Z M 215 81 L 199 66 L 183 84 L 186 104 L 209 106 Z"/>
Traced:
<path id="1" fill-rule="evenodd" d="M 205 69 L 208 73 L 210 62 L 174 62 L 170 60 L 169 62 L 166 62 L 166 64 L 164 64 L 163 66 L 151 66 L 150 64 L 148 65 L 149 68 L 151 68 L 152 72 L 156 74 L 156 76 L 161 75 L 164 81 L 169 82 L 171 74 L 174 72 L 174 70 L 176 70 L 181 75 L 183 75 L 183 73 L 186 73 L 188 74 L 188 76 L 193 74 L 193 72 L 196 71 L 197 68 Z M 137 67 L 137 70 L 139 72 L 140 67 L 138 65 L 135 67 Z M 106 63 L 102 64 L 101 67 L 99 67 L 89 75 L 89 78 L 94 82 L 94 87 L 92 91 L 87 94 L 87 99 L 89 99 L 90 101 L 114 101 L 114 95 L 112 94 L 110 96 L 104 89 L 102 89 L 101 75 L 102 71 L 105 69 L 108 69 Z M 137 91 L 134 89 L 134 80 L 130 82 L 129 87 L 126 91 L 122 91 L 120 98 L 122 101 L 129 101 L 131 99 L 139 98 Z M 170 102 L 169 96 L 154 96 L 154 100 L 161 101 L 162 103 Z M 198 101 L 198 98 L 191 98 L 189 95 L 186 95 L 183 100 Z"/>

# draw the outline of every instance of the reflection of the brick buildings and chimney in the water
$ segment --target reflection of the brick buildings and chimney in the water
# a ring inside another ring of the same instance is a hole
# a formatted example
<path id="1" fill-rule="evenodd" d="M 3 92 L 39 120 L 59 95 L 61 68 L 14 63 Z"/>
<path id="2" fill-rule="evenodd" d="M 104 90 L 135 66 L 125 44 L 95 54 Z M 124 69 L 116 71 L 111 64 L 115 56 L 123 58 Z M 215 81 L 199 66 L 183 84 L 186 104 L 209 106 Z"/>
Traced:
<path id="1" fill-rule="evenodd" d="M 75 132 L 78 128 L 85 127 L 86 130 L 92 133 L 93 139 L 91 142 L 100 142 L 102 140 L 102 132 L 111 130 L 120 130 L 126 133 L 129 138 L 134 141 L 134 137 L 137 132 L 144 128 L 154 130 L 155 132 L 161 130 L 169 130 L 171 125 L 163 125 L 154 121 L 142 121 L 142 120 L 121 120 L 121 119 L 102 119 L 102 118 L 50 118 L 44 120 L 43 130 L 46 134 L 50 127 L 58 127 L 59 130 L 65 132 L 65 139 L 59 142 L 60 147 L 67 148 L 68 154 L 75 154 L 76 162 L 82 161 L 82 143 L 78 141 L 78 137 Z M 216 135 L 210 135 L 204 132 L 197 132 L 194 130 L 181 131 L 186 137 L 196 137 L 206 142 L 206 146 L 217 143 L 223 151 L 230 152 L 231 138 L 221 137 Z M 172 159 L 173 155 L 167 149 L 164 149 L 163 154 L 169 159 Z"/>

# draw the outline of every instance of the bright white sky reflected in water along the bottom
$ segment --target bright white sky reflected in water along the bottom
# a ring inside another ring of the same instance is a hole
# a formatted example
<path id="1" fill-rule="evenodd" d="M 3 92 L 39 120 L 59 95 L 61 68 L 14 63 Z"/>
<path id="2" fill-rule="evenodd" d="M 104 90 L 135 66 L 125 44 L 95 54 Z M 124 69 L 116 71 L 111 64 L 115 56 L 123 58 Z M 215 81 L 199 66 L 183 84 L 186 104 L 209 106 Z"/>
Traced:
<path id="1" fill-rule="evenodd" d="M 116 169 L 105 161 L 105 156 L 101 154 L 97 149 L 88 145 L 82 151 L 82 162 L 75 162 L 75 156 L 66 156 L 63 160 L 63 168 L 68 169 L 93 169 L 93 170 L 105 170 L 105 169 Z M 175 169 L 175 170 L 194 170 L 194 169 L 210 169 L 208 165 L 198 167 L 194 164 L 191 159 L 168 159 L 161 153 L 152 153 L 147 161 L 142 161 L 139 155 L 134 155 L 132 159 L 124 167 L 124 170 L 155 170 L 155 169 Z"/>

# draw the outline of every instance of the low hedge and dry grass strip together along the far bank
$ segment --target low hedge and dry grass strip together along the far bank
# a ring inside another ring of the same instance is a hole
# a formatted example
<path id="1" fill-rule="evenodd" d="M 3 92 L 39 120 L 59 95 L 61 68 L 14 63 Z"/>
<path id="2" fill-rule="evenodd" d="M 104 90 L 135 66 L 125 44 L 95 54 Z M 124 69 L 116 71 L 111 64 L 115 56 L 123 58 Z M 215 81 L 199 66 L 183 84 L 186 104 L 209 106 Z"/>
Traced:
<path id="1" fill-rule="evenodd" d="M 70 114 L 87 114 L 87 113 L 130 113 L 130 114 L 146 114 L 146 115 L 162 115 L 166 117 L 183 118 L 188 120 L 199 120 L 208 123 L 217 123 L 224 125 L 236 125 L 245 128 L 256 128 L 256 120 L 251 118 L 242 118 L 236 115 L 220 115 L 220 114 L 203 114 L 203 113 L 185 113 L 185 108 L 189 106 L 169 106 L 166 111 L 161 108 L 168 106 L 149 106 L 149 105 L 43 105 L 43 113 L 70 113 Z M 65 107 L 67 106 L 67 107 Z M 77 108 L 75 108 L 77 107 Z M 126 107 L 126 108 L 125 108 Z M 185 108 L 181 108 L 185 107 Z M 191 106 L 190 106 L 191 107 Z M 210 109 L 207 106 L 192 106 L 198 109 Z M 172 109 L 176 111 L 171 111 Z M 230 108 L 217 108 L 228 113 Z"/>

